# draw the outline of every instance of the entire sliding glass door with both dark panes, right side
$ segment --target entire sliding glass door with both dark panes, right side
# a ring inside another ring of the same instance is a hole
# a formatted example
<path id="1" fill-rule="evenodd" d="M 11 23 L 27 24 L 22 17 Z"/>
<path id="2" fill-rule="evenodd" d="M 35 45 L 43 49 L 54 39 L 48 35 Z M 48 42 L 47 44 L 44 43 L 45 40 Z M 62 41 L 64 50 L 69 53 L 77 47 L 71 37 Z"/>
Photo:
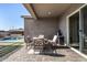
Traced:
<path id="1" fill-rule="evenodd" d="M 69 45 L 87 54 L 87 6 L 68 18 Z"/>

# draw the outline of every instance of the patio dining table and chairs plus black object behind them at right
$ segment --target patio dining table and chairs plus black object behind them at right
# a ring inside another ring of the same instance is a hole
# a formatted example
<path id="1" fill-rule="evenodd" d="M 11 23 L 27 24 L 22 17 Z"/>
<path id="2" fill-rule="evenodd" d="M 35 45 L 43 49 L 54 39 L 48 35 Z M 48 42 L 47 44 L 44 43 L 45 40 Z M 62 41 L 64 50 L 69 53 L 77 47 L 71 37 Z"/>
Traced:
<path id="1" fill-rule="evenodd" d="M 31 37 L 30 35 L 26 36 L 26 48 L 33 48 L 34 52 L 50 52 L 54 51 L 56 52 L 56 47 L 59 44 L 63 44 L 64 36 L 62 33 L 53 36 L 53 40 L 45 39 L 43 34 L 40 34 L 39 36 Z"/>

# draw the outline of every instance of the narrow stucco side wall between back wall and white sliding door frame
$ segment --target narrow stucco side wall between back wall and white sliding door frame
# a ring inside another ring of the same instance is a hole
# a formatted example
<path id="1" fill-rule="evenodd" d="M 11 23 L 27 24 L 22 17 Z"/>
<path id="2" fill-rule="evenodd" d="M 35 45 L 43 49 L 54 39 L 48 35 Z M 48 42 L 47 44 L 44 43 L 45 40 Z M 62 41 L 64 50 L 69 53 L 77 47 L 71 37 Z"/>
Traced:
<path id="1" fill-rule="evenodd" d="M 78 9 L 83 4 L 73 4 L 59 19 L 58 26 L 63 31 L 63 34 L 65 36 L 65 42 L 67 43 L 67 19 L 66 17 L 74 12 L 76 9 Z"/>

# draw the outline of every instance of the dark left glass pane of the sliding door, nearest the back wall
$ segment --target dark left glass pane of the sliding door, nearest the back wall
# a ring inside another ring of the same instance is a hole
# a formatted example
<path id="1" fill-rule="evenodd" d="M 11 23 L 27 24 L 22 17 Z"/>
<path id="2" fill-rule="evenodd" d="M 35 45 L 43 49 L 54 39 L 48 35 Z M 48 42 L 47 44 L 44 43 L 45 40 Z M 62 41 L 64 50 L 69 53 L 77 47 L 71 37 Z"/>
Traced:
<path id="1" fill-rule="evenodd" d="M 79 12 L 69 17 L 69 45 L 79 48 Z"/>

